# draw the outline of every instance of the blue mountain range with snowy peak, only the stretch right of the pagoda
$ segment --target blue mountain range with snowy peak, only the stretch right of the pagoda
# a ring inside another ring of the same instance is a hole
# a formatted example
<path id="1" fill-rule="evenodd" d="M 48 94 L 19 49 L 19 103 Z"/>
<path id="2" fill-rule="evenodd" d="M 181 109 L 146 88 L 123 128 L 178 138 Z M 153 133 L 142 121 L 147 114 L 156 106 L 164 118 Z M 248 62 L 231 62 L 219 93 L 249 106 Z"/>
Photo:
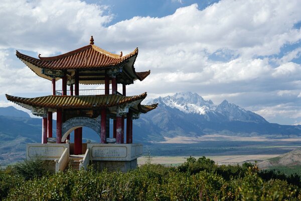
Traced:
<path id="1" fill-rule="evenodd" d="M 197 93 L 181 92 L 158 97 L 152 103 L 158 108 L 134 121 L 140 142 L 165 141 L 177 136 L 199 137 L 222 134 L 232 136 L 295 137 L 301 126 L 279 125 L 224 100 L 215 105 Z"/>

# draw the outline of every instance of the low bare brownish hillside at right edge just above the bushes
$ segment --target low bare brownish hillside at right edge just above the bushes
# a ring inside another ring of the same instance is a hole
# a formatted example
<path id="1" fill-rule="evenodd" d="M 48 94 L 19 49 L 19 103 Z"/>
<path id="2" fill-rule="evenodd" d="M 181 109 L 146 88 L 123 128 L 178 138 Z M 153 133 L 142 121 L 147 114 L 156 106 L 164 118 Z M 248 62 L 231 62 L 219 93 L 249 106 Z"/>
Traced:
<path id="1" fill-rule="evenodd" d="M 260 168 L 301 165 L 301 148 L 258 163 Z"/>

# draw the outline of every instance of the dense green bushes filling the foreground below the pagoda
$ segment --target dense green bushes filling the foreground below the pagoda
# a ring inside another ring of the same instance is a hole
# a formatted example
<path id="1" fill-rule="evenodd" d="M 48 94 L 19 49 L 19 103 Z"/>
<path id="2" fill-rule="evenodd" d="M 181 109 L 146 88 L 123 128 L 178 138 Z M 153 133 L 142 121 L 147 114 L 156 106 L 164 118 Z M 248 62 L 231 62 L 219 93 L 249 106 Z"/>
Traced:
<path id="1" fill-rule="evenodd" d="M 26 178 L 0 170 L 5 200 L 299 200 L 288 177 L 266 174 L 251 164 L 218 166 L 205 157 L 175 167 L 145 164 L 127 173 L 59 172 Z M 268 178 L 270 177 L 270 178 Z"/>

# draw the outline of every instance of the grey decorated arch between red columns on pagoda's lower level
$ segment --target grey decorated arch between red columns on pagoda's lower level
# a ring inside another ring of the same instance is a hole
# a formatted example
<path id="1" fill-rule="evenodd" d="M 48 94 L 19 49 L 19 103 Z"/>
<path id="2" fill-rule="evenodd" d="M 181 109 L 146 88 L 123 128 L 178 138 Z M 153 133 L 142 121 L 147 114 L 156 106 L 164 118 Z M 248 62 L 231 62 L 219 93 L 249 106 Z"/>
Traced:
<path id="1" fill-rule="evenodd" d="M 93 129 L 97 135 L 100 136 L 100 116 L 96 119 L 92 119 L 89 117 L 74 117 L 62 124 L 62 142 L 64 142 L 67 136 L 74 130 L 80 127 L 88 127 Z"/>

